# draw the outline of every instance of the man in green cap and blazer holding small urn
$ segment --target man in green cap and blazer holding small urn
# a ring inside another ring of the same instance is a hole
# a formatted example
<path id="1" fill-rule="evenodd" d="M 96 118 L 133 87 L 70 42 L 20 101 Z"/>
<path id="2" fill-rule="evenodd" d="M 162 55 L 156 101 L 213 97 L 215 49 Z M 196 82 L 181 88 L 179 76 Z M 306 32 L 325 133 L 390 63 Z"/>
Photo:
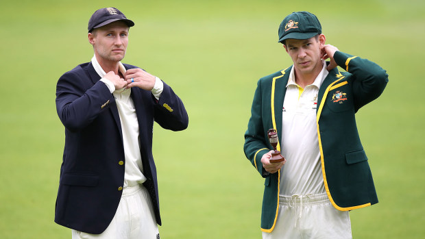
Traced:
<path id="1" fill-rule="evenodd" d="M 285 17 L 279 42 L 293 66 L 258 81 L 244 144 L 265 178 L 263 238 L 352 238 L 348 211 L 378 203 L 354 115 L 380 96 L 388 75 L 326 45 L 309 12 Z M 269 129 L 283 162 L 270 162 Z"/>

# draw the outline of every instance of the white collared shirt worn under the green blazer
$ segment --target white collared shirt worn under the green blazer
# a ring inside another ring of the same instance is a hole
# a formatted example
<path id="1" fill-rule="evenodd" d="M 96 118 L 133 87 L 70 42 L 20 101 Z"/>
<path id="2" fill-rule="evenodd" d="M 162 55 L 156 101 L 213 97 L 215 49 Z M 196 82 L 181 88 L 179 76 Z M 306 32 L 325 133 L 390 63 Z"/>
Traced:
<path id="1" fill-rule="evenodd" d="M 325 192 L 316 124 L 317 95 L 328 75 L 323 64 L 313 84 L 304 89 L 295 83 L 294 67 L 289 73 L 282 107 L 282 155 L 287 162 L 280 173 L 280 194 L 284 196 Z"/>

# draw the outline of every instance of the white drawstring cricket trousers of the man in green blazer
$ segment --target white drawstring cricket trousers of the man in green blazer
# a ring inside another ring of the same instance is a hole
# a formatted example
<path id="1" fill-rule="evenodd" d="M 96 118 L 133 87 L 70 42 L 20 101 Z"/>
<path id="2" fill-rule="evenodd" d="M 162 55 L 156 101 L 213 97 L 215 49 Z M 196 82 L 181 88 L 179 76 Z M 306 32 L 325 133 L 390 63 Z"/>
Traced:
<path id="1" fill-rule="evenodd" d="M 263 239 L 351 239 L 348 212 L 330 203 L 326 193 L 279 197 L 276 226 Z"/>

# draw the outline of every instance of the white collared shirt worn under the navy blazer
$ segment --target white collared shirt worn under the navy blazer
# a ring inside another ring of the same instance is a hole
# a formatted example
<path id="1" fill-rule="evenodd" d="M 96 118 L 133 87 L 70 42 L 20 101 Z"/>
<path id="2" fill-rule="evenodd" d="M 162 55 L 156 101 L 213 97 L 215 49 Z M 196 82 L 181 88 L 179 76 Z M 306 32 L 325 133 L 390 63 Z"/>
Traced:
<path id="1" fill-rule="evenodd" d="M 123 145 L 124 145 L 124 157 L 125 157 L 125 175 L 123 187 L 132 187 L 138 184 L 143 184 L 146 181 L 146 177 L 143 175 L 142 157 L 140 152 L 140 137 L 138 120 L 136 115 L 136 109 L 134 108 L 134 102 L 130 97 L 131 89 L 119 89 L 115 90 L 114 84 L 105 77 L 106 73 L 101 68 L 99 62 L 96 60 L 96 56 L 93 56 L 91 60 L 93 67 L 97 74 L 102 77 L 100 81 L 104 82 L 108 86 L 112 95 L 114 95 L 115 102 L 117 103 L 119 119 L 121 121 L 121 129 L 123 132 Z M 119 71 L 125 75 L 125 67 L 119 62 Z M 159 99 L 162 93 L 163 84 L 162 81 L 156 77 L 154 89 L 152 94 L 156 99 Z M 121 159 L 117 159 L 117 164 Z"/>

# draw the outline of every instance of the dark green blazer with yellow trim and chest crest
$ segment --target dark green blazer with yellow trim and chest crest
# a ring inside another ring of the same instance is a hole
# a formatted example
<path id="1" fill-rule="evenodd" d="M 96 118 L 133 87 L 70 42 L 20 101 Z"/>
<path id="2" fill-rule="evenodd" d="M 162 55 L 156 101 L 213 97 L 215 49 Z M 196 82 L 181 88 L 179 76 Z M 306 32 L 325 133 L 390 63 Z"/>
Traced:
<path id="1" fill-rule="evenodd" d="M 337 210 L 348 211 L 378 203 L 354 114 L 380 96 L 388 75 L 374 62 L 341 51 L 335 52 L 334 59 L 347 72 L 332 69 L 319 88 L 317 135 L 326 193 Z M 276 225 L 280 171 L 269 174 L 260 160 L 273 149 L 268 129 L 278 132 L 280 151 L 282 105 L 291 67 L 258 81 L 245 132 L 245 155 L 265 177 L 261 214 L 261 230 L 265 232 L 273 231 Z"/>

